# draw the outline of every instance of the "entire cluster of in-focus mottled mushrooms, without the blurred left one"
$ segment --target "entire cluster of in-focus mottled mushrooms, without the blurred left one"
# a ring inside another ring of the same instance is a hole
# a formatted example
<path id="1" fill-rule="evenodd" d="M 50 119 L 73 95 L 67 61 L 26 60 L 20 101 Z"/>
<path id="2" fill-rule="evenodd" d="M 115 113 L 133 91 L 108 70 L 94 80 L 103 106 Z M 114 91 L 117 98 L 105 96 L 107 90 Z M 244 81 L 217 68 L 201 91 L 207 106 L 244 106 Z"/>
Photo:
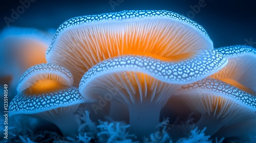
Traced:
<path id="1" fill-rule="evenodd" d="M 214 49 L 202 26 L 174 12 L 79 16 L 59 26 L 47 63 L 22 76 L 10 115 L 45 118 L 69 135 L 77 129 L 72 114 L 78 106 L 105 99 L 109 116 L 128 116 L 139 140 L 160 130 L 166 106 L 194 112 L 207 135 L 245 121 L 243 129 L 254 131 L 255 54 L 242 45 Z"/>

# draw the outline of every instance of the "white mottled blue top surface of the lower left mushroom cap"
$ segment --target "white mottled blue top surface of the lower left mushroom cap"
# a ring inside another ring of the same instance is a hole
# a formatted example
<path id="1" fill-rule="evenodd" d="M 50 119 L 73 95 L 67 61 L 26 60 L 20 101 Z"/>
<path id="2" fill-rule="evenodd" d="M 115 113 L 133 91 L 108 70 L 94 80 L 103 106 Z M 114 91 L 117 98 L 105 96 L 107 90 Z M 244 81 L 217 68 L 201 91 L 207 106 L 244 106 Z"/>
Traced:
<path id="1" fill-rule="evenodd" d="M 24 92 L 20 92 L 11 101 L 9 113 L 10 115 L 35 114 L 83 102 L 84 100 L 76 87 L 40 95 L 25 95 Z"/>

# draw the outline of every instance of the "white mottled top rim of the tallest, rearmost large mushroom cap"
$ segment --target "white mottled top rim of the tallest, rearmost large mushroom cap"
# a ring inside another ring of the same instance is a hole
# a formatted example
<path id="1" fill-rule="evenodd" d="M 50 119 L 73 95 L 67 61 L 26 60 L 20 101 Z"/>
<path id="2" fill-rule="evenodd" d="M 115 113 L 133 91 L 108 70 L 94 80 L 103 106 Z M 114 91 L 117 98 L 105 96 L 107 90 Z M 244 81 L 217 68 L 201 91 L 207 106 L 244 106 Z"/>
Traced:
<path id="1" fill-rule="evenodd" d="M 75 27 L 78 25 L 81 25 L 83 23 L 93 23 L 97 21 L 107 21 L 107 20 L 113 20 L 113 21 L 121 21 L 124 19 L 136 19 L 136 18 L 143 18 L 143 17 L 169 17 L 171 19 L 176 19 L 181 22 L 187 23 L 194 28 L 198 29 L 200 32 L 202 32 L 203 35 L 205 35 L 207 38 L 209 38 L 208 34 L 206 31 L 203 29 L 202 26 L 198 25 L 197 22 L 190 20 L 184 16 L 181 16 L 177 13 L 170 12 L 170 11 L 165 11 L 165 10 L 131 10 L 131 11 L 121 11 L 121 12 L 115 12 L 115 13 L 104 13 L 104 14 L 97 14 L 97 15 L 85 15 L 85 16 L 78 16 L 71 18 L 62 25 L 59 26 L 57 29 L 52 43 L 49 46 L 46 55 L 49 55 L 49 53 L 52 50 L 52 45 L 55 42 L 55 39 L 61 33 L 63 30 L 70 28 L 70 27 Z"/>

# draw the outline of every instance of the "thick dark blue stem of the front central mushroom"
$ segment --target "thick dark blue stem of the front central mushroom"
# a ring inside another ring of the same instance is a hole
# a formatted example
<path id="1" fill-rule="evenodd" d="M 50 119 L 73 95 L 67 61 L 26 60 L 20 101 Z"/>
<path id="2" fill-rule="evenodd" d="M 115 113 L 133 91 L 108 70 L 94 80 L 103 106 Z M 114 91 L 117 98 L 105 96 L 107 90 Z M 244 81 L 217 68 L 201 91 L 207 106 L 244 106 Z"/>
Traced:
<path id="1" fill-rule="evenodd" d="M 130 105 L 130 131 L 138 139 L 143 139 L 145 136 L 158 131 L 160 110 L 160 104 L 137 103 Z"/>

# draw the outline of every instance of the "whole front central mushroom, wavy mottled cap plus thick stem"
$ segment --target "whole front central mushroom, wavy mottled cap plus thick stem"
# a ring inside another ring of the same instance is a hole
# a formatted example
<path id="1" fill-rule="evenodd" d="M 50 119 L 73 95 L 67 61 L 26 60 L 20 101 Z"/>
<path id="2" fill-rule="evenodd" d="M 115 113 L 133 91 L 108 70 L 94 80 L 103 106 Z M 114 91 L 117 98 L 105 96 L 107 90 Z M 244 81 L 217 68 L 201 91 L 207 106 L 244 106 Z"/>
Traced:
<path id="1" fill-rule="evenodd" d="M 79 91 L 90 102 L 105 98 L 127 104 L 131 131 L 143 138 L 158 130 L 160 109 L 181 84 L 202 79 L 227 63 L 221 54 L 209 50 L 184 60 L 160 59 L 123 55 L 104 60 L 84 74 Z"/>

